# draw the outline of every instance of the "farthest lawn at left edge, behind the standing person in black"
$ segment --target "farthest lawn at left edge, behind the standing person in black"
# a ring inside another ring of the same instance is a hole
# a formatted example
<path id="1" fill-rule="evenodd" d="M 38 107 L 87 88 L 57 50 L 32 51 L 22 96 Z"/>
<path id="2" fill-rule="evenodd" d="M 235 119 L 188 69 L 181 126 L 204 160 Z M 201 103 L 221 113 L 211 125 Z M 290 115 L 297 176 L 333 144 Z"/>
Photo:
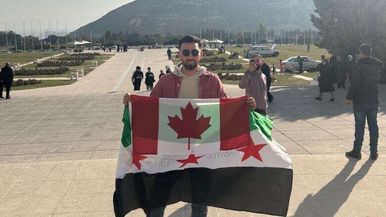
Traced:
<path id="1" fill-rule="evenodd" d="M 40 59 L 48 57 L 53 54 L 62 53 L 61 51 L 43 51 L 43 52 L 29 52 L 29 53 L 0 53 L 0 63 L 4 64 L 9 62 L 11 66 L 13 63 L 28 63 L 34 61 L 34 59 Z"/>

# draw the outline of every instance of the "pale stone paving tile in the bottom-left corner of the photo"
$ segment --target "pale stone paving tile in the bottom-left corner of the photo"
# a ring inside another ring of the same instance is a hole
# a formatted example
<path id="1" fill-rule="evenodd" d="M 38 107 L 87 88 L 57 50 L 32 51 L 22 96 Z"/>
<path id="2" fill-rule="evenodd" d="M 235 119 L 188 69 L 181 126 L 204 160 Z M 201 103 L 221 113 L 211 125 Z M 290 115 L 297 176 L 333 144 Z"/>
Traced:
<path id="1" fill-rule="evenodd" d="M 4 217 L 21 215 L 31 199 L 31 197 L 0 199 L 0 215 Z"/>

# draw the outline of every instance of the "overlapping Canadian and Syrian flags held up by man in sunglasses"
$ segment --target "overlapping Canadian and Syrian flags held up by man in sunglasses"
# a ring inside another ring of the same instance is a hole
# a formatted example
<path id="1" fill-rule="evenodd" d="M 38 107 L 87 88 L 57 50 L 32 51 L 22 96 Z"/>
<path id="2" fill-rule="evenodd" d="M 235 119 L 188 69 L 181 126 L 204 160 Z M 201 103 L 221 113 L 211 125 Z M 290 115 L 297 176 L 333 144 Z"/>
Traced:
<path id="1" fill-rule="evenodd" d="M 286 216 L 291 158 L 272 138 L 272 120 L 245 101 L 132 95 L 122 119 L 115 215 L 184 201 Z"/>

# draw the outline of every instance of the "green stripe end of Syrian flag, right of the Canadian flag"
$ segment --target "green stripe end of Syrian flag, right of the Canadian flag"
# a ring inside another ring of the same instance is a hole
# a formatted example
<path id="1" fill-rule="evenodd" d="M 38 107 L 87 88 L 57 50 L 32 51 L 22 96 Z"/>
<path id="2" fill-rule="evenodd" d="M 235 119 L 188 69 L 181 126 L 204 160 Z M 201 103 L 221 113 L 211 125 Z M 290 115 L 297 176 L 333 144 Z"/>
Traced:
<path id="1" fill-rule="evenodd" d="M 257 112 L 249 112 L 249 128 L 252 130 L 261 130 L 269 140 L 272 140 L 271 130 L 273 121 L 268 116 L 260 115 Z"/>

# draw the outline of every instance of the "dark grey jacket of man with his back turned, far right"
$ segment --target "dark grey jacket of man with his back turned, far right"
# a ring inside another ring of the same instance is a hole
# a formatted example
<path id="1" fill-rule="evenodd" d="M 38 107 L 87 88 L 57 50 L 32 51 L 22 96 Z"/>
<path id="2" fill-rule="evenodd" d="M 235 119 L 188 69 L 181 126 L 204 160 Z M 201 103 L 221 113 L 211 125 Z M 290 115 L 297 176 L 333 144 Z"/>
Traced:
<path id="1" fill-rule="evenodd" d="M 379 103 L 379 80 L 384 64 L 381 60 L 366 57 L 358 61 L 346 99 L 355 104 Z"/>

